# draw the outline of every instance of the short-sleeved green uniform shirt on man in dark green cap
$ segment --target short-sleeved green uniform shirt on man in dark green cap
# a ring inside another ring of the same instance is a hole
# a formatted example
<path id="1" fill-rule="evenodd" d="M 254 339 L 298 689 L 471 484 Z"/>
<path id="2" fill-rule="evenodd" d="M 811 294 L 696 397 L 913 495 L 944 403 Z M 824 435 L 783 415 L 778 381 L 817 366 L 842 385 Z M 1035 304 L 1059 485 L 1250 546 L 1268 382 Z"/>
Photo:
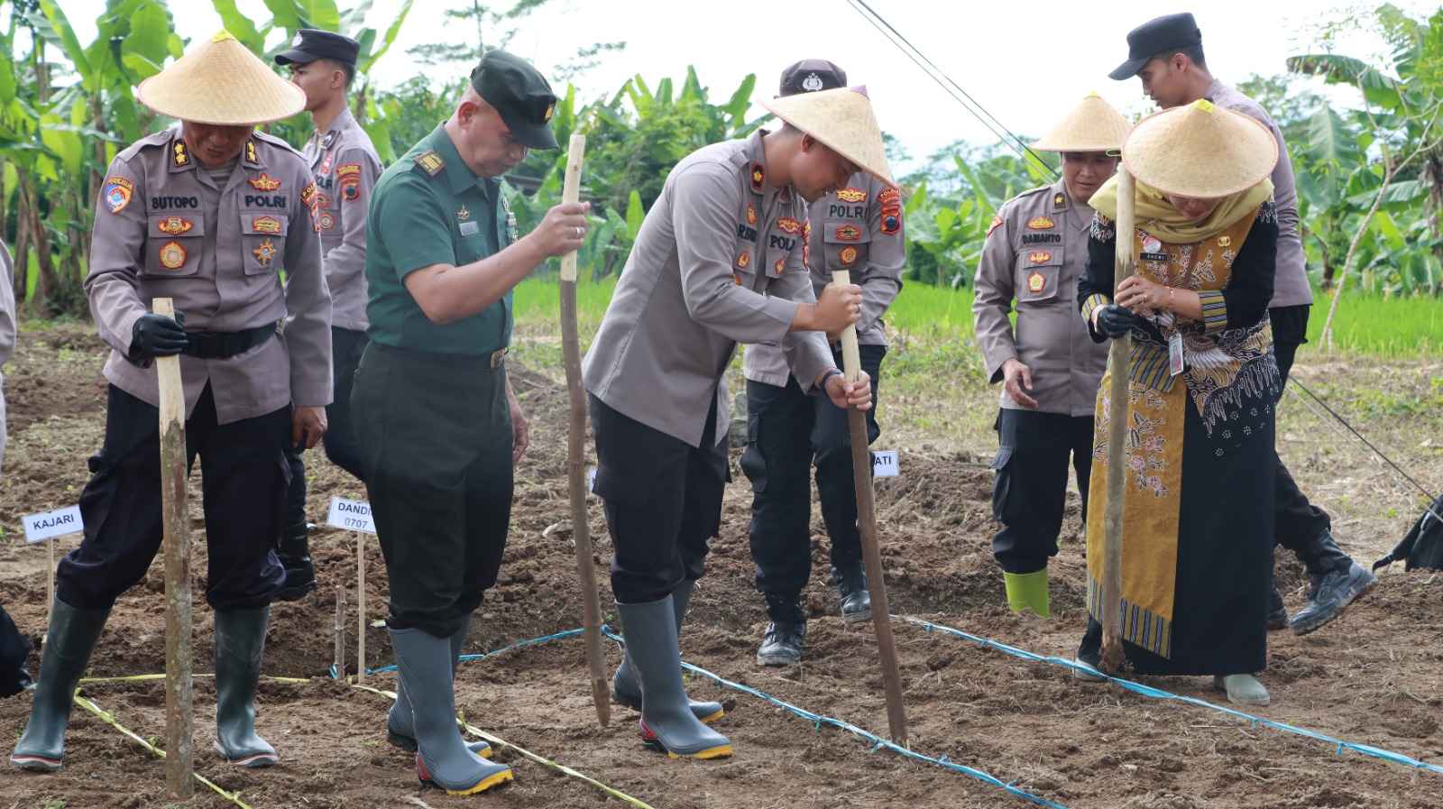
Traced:
<path id="1" fill-rule="evenodd" d="M 444 125 L 387 169 L 371 195 L 365 275 L 367 336 L 378 343 L 483 356 L 511 343 L 511 293 L 485 311 L 431 323 L 405 288 L 405 275 L 433 264 L 460 267 L 515 241 L 515 218 L 501 180 L 478 177 Z"/>

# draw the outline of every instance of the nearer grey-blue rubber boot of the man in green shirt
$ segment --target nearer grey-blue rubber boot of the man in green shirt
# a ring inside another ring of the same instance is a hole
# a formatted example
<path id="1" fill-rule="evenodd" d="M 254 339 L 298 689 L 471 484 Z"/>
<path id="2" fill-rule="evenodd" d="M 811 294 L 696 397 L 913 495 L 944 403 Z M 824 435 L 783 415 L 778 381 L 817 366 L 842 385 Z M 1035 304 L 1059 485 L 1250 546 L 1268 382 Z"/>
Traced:
<path id="1" fill-rule="evenodd" d="M 420 629 L 392 629 L 391 646 L 411 701 L 416 728 L 416 777 L 447 795 L 475 795 L 512 779 L 511 767 L 492 764 L 466 748 L 456 727 L 456 656 L 450 639 Z"/>

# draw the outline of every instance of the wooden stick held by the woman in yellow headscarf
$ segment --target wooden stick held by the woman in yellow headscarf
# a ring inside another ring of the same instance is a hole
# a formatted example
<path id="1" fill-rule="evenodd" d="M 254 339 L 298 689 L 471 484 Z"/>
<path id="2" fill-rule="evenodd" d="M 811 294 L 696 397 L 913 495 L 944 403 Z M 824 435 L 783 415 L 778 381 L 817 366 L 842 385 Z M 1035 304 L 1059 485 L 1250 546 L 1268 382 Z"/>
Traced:
<path id="1" fill-rule="evenodd" d="M 1117 284 L 1133 274 L 1133 232 L 1136 203 L 1133 174 L 1127 166 L 1117 167 L 1117 262 L 1114 265 L 1113 300 Z M 1108 389 L 1107 431 L 1107 510 L 1102 515 L 1102 669 L 1121 673 L 1127 662 L 1123 650 L 1123 482 L 1127 470 L 1127 372 L 1133 352 L 1133 337 L 1123 335 L 1108 349 L 1111 371 Z"/>

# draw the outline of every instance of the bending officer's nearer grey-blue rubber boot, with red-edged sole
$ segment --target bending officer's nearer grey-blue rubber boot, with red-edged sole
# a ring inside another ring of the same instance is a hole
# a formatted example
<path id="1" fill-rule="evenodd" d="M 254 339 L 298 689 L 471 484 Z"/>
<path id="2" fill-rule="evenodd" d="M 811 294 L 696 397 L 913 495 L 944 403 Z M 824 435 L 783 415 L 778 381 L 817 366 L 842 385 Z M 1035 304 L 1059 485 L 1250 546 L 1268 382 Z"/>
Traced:
<path id="1" fill-rule="evenodd" d="M 732 754 L 727 737 L 701 724 L 681 686 L 681 652 L 671 596 L 646 604 L 616 604 L 626 649 L 641 678 L 642 743 L 672 759 L 720 759 Z"/>

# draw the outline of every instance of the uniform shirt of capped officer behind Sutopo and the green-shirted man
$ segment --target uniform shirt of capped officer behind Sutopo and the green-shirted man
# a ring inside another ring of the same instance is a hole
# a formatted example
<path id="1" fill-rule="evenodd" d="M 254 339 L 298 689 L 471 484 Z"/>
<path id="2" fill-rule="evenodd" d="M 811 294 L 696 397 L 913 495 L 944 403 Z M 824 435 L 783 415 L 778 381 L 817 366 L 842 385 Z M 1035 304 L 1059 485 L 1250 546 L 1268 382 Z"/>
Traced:
<path id="1" fill-rule="evenodd" d="M 330 324 L 365 332 L 365 216 L 381 159 L 351 110 L 316 131 L 302 153 L 316 177 L 316 226 L 330 287 Z"/>

